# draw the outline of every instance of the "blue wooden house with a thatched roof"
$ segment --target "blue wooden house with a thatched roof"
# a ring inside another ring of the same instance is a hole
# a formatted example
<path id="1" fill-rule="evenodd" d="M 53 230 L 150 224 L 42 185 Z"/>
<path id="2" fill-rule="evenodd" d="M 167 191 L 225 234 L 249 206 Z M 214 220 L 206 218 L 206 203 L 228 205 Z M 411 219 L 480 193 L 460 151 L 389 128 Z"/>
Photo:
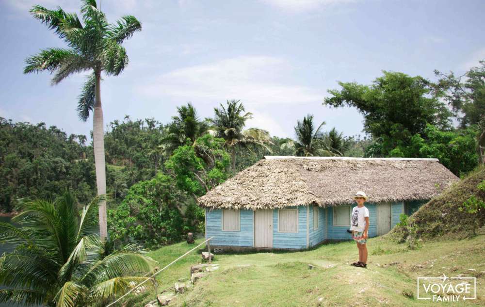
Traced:
<path id="1" fill-rule="evenodd" d="M 198 204 L 215 247 L 302 249 L 351 239 L 356 191 L 375 237 L 457 180 L 437 159 L 265 156 Z"/>

